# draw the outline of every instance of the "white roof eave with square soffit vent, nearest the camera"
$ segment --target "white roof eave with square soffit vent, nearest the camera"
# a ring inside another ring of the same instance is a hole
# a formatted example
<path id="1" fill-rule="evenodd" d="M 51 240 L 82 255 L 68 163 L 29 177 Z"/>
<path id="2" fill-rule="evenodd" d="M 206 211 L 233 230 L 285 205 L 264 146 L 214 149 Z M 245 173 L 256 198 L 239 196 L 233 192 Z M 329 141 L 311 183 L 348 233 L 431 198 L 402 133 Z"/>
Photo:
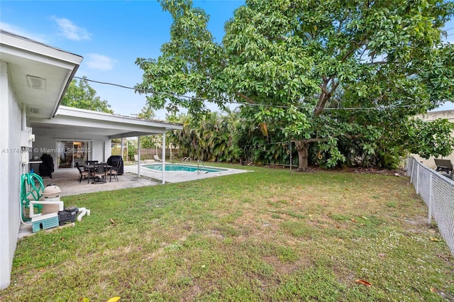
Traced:
<path id="1" fill-rule="evenodd" d="M 26 115 L 52 118 L 83 57 L 0 30 L 0 61 L 8 64 Z"/>

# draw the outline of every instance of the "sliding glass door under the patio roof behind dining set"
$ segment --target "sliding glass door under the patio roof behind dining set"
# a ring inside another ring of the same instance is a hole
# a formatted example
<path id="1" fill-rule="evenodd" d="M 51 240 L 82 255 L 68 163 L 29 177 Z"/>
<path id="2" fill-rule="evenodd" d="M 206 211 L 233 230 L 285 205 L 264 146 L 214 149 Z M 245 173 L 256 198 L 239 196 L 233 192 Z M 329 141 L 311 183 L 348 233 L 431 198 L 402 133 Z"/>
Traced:
<path id="1" fill-rule="evenodd" d="M 73 168 L 76 166 L 76 162 L 84 164 L 88 160 L 89 145 L 90 142 L 86 141 L 58 140 L 58 169 Z"/>

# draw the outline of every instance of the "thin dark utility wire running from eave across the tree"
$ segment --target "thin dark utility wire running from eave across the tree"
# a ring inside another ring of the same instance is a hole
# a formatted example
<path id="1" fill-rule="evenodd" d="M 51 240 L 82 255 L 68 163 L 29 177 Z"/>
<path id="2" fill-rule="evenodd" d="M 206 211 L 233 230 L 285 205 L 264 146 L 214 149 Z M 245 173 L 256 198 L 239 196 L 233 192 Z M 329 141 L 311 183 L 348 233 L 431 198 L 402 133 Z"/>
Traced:
<path id="1" fill-rule="evenodd" d="M 244 103 L 244 102 L 239 102 L 239 101 L 224 101 L 224 100 L 219 100 L 219 99 L 205 99 L 205 98 L 199 98 L 196 96 L 184 96 L 181 94 L 173 94 L 170 92 L 160 92 L 160 91 L 154 91 L 153 89 L 135 89 L 134 87 L 129 87 L 129 86 L 124 86 L 120 84 L 114 84 L 114 83 L 109 83 L 109 82 L 100 82 L 100 81 L 95 81 L 93 79 L 87 79 L 85 77 L 74 77 L 75 79 L 84 79 L 88 82 L 94 82 L 97 84 L 105 84 L 105 85 L 111 85 L 111 86 L 117 86 L 121 87 L 124 89 L 131 89 L 135 91 L 141 91 L 149 94 L 160 94 L 164 96 L 173 96 L 176 98 L 182 98 L 182 99 L 193 99 L 196 101 L 209 101 L 209 102 L 218 102 L 218 103 L 223 103 L 223 104 L 237 104 L 237 105 L 242 105 L 242 106 L 259 106 L 259 107 L 270 107 L 270 108 L 292 108 L 292 106 L 279 106 L 279 105 L 269 105 L 269 104 L 253 104 L 253 103 Z M 308 108 L 304 106 L 293 106 L 293 108 L 299 108 L 299 109 L 304 109 L 304 110 L 309 110 L 309 109 L 314 109 L 314 110 L 347 110 L 347 111 L 355 111 L 355 110 L 384 110 L 384 109 L 394 109 L 394 108 L 411 108 L 411 107 L 416 107 L 419 105 L 393 105 L 393 106 L 380 106 L 380 107 L 337 107 L 337 108 L 332 108 L 332 107 L 326 107 L 326 108 L 320 108 L 320 107 L 314 107 L 314 108 Z"/>

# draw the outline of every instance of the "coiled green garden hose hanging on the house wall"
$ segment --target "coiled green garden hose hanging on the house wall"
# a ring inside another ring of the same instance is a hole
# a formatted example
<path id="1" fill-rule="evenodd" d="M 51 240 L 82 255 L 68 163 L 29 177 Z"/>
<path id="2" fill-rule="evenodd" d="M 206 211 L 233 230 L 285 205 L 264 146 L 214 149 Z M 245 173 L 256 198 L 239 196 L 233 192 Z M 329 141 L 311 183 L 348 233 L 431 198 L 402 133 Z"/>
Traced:
<path id="1" fill-rule="evenodd" d="M 38 182 L 38 186 L 36 185 Z M 21 175 L 21 218 L 22 222 L 26 219 L 25 209 L 30 207 L 30 201 L 38 201 L 43 196 L 44 184 L 43 178 L 35 173 L 26 173 Z M 43 208 L 42 205 L 37 205 L 38 208 Z"/>

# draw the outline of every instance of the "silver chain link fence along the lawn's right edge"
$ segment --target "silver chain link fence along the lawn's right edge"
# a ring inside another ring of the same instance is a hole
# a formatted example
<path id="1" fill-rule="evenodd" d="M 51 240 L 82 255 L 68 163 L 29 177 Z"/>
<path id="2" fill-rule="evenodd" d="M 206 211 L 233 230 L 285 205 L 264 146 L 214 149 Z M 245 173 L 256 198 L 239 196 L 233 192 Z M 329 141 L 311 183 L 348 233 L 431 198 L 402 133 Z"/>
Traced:
<path id="1" fill-rule="evenodd" d="M 438 230 L 454 255 L 454 181 L 409 157 L 406 174 L 428 206 L 428 223 L 435 218 Z"/>

